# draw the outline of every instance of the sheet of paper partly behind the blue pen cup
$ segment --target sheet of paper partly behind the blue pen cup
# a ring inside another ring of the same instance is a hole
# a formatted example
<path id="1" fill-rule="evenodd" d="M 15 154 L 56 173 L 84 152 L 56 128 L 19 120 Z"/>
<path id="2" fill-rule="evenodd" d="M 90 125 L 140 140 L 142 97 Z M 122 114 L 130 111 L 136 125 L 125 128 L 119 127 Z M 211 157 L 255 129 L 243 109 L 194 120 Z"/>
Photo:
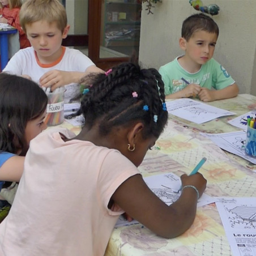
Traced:
<path id="1" fill-rule="evenodd" d="M 245 153 L 246 131 L 232 131 L 231 133 L 200 133 L 208 137 L 225 151 L 240 156 L 253 164 L 256 164 L 256 157 L 248 156 Z"/>

